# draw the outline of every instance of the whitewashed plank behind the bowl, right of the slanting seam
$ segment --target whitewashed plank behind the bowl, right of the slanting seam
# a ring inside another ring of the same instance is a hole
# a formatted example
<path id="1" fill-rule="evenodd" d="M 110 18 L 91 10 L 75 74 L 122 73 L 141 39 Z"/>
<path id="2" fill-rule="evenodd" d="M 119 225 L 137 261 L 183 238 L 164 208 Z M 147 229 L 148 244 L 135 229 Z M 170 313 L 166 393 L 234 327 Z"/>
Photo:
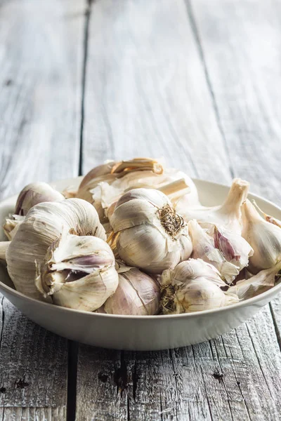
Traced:
<path id="1" fill-rule="evenodd" d="M 233 171 L 251 182 L 252 192 L 281 203 L 280 4 L 257 0 L 186 0 L 186 4 L 231 149 Z"/>

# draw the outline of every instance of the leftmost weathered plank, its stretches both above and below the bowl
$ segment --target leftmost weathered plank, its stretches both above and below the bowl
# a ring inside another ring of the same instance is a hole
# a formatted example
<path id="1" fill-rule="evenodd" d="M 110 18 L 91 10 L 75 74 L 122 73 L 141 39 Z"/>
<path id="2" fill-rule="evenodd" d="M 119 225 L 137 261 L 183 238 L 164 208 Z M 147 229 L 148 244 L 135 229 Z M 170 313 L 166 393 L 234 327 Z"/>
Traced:
<path id="1" fill-rule="evenodd" d="M 1 197 L 78 174 L 85 8 L 0 0 Z M 1 419 L 65 420 L 67 340 L 1 300 Z"/>

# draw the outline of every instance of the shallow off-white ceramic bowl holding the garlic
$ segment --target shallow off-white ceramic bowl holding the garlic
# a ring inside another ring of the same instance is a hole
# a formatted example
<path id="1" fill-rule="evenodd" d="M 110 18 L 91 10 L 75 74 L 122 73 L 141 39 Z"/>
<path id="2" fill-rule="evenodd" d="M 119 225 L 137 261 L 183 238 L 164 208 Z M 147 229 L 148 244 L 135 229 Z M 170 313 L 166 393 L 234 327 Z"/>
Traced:
<path id="1" fill-rule="evenodd" d="M 58 189 L 79 185 L 80 178 L 53 183 Z M 223 202 L 228 188 L 195 180 L 203 204 Z M 281 220 L 281 209 L 254 194 L 259 206 Z M 0 203 L 0 222 L 13 213 L 16 196 Z M 4 234 L 1 233 L 1 241 Z M 0 265 L 1 266 L 1 265 Z M 221 309 L 171 316 L 117 316 L 65 309 L 25 297 L 13 288 L 6 269 L 0 267 L 0 292 L 35 323 L 71 340 L 115 349 L 157 350 L 196 344 L 228 332 L 254 316 L 281 290 L 281 283 L 266 293 Z"/>

